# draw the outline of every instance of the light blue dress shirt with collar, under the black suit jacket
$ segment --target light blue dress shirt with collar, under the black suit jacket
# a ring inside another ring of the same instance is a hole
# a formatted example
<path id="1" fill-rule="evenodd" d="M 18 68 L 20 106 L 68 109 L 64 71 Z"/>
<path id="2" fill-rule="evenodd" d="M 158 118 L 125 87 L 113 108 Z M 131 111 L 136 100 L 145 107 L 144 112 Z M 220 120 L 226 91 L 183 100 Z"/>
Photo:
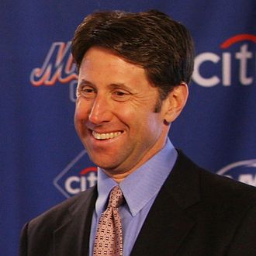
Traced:
<path id="1" fill-rule="evenodd" d="M 168 177 L 177 159 L 177 151 L 168 139 L 162 150 L 136 171 L 127 176 L 119 186 L 126 203 L 119 207 L 123 227 L 123 256 L 130 255 L 140 229 L 146 219 L 157 193 Z M 92 216 L 89 254 L 93 254 L 95 233 L 99 218 L 105 211 L 109 192 L 118 185 L 112 178 L 98 170 L 98 199 Z"/>

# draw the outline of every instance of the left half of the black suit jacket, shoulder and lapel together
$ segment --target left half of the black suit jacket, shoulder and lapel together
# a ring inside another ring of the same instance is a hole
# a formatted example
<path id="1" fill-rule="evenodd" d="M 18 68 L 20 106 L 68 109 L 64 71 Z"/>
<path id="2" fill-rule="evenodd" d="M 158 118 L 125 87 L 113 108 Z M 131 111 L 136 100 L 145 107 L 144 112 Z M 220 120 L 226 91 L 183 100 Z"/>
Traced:
<path id="1" fill-rule="evenodd" d="M 84 234 L 83 227 L 90 227 L 96 197 L 97 190 L 93 187 L 57 204 L 26 223 L 20 237 L 19 255 L 54 254 L 57 246 L 55 234 L 64 227 L 69 227 L 68 232 L 63 235 L 64 244 L 69 243 L 68 248 L 75 247 L 77 240 L 71 240 L 70 237 L 75 237 L 74 234 L 79 232 Z M 62 251 L 60 255 L 69 255 L 69 251 Z"/>

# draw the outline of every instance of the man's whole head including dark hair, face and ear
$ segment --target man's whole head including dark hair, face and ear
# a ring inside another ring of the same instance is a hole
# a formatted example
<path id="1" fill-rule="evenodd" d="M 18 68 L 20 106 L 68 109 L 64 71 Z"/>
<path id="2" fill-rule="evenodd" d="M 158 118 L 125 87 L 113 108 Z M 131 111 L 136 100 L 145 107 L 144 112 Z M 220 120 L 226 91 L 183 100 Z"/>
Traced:
<path id="1" fill-rule="evenodd" d="M 78 26 L 74 123 L 91 160 L 120 181 L 164 147 L 185 106 L 192 40 L 161 12 L 97 12 Z"/>

